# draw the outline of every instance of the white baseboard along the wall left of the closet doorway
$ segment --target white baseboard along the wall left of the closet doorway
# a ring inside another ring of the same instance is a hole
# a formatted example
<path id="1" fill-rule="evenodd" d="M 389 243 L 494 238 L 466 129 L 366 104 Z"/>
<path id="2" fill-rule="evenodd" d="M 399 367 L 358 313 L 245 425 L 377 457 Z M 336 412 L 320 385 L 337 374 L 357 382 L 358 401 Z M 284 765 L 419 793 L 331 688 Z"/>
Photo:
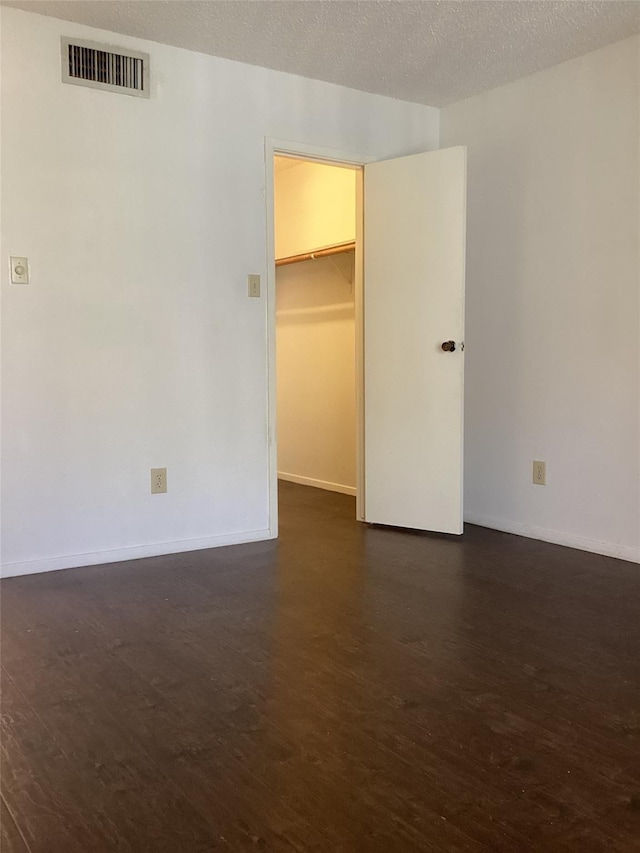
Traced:
<path id="1" fill-rule="evenodd" d="M 68 554 L 44 560 L 28 560 L 21 563 L 5 563 L 0 577 L 34 575 L 54 572 L 59 569 L 77 569 L 81 566 L 96 566 L 101 563 L 121 563 L 124 560 L 140 560 L 145 557 L 161 557 L 165 554 L 181 554 L 185 551 L 201 551 L 223 545 L 241 545 L 245 542 L 261 542 L 272 539 L 269 530 L 248 530 L 243 533 L 226 533 L 222 536 L 207 536 L 203 539 L 179 539 L 176 542 L 159 542 L 154 545 L 133 545 L 110 551 L 94 551 L 87 554 Z"/>

